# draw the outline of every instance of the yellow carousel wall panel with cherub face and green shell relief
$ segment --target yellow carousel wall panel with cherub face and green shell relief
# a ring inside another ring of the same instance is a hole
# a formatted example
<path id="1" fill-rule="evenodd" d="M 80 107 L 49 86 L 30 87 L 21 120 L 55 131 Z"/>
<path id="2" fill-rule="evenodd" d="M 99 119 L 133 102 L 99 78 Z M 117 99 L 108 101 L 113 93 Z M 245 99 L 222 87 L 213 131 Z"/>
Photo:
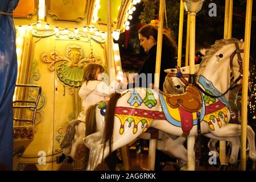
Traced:
<path id="1" fill-rule="evenodd" d="M 57 170 L 56 156 L 68 123 L 76 119 L 82 110 L 78 95 L 82 68 L 88 63 L 106 65 L 105 40 L 97 36 L 73 31 L 65 33 L 53 30 L 32 30 L 27 36 L 27 47 L 21 61 L 21 80 L 25 84 L 42 87 L 41 100 L 36 113 L 34 140 L 20 157 L 20 163 L 34 163 L 39 170 Z M 35 97 L 34 91 L 29 97 Z M 30 117 L 31 112 L 23 113 Z M 46 156 L 46 165 L 39 165 L 41 155 Z"/>

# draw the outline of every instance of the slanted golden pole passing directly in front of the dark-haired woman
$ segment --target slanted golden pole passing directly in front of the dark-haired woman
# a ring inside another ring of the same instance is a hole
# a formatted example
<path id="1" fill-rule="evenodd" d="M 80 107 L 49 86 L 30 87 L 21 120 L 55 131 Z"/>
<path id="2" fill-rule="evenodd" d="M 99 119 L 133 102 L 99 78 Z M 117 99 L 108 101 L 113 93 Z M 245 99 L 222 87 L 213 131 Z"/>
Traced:
<path id="1" fill-rule="evenodd" d="M 158 42 L 156 48 L 156 65 L 155 65 L 155 86 L 159 87 L 159 75 L 161 67 L 161 55 L 162 55 L 162 40 L 163 40 L 163 20 L 164 20 L 164 7 L 166 6 L 165 0 L 160 0 L 159 7 L 159 28 L 158 28 Z M 150 139 L 150 146 L 148 151 L 148 166 L 151 170 L 155 169 L 155 149 L 156 139 Z"/>

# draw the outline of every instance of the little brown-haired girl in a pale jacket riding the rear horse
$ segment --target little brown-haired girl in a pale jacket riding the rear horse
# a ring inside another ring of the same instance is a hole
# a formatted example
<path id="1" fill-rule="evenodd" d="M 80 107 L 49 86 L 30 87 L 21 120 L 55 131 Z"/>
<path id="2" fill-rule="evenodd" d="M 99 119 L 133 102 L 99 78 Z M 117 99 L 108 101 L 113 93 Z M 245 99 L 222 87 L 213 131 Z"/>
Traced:
<path id="1" fill-rule="evenodd" d="M 87 64 L 84 68 L 84 84 L 79 90 L 82 98 L 84 111 L 79 114 L 79 120 L 85 121 L 85 113 L 90 105 L 95 105 L 100 101 L 106 100 L 115 90 L 120 89 L 121 82 L 113 81 L 109 86 L 102 81 L 104 68 L 97 63 Z"/>

